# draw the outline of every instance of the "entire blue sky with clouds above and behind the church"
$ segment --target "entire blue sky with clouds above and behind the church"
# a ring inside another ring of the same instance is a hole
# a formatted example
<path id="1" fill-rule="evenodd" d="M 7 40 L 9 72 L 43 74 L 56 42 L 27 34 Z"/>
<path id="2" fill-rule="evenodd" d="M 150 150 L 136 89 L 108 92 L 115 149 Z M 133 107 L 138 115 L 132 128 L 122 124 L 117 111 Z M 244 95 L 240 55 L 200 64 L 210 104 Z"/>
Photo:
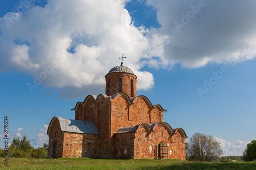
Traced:
<path id="1" fill-rule="evenodd" d="M 48 143 L 52 117 L 73 119 L 78 101 L 104 93 L 104 75 L 125 54 L 138 95 L 167 110 L 164 122 L 242 155 L 256 129 L 255 5 L 3 0 L 0 130 L 8 115 L 9 142 L 26 134 L 35 148 Z"/>

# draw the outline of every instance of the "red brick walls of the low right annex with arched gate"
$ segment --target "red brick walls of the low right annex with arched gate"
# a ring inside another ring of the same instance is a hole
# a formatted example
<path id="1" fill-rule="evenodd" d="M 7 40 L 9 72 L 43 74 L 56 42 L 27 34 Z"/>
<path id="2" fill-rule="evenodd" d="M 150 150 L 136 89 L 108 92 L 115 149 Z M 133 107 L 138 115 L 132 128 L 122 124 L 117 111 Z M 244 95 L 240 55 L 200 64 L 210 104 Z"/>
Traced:
<path id="1" fill-rule="evenodd" d="M 158 159 L 158 144 L 164 141 L 167 144 L 168 159 L 185 159 L 184 138 L 182 142 L 178 132 L 171 142 L 168 130 L 162 125 L 156 125 L 152 133 L 141 125 L 135 133 L 118 133 L 114 137 L 115 158 Z"/>

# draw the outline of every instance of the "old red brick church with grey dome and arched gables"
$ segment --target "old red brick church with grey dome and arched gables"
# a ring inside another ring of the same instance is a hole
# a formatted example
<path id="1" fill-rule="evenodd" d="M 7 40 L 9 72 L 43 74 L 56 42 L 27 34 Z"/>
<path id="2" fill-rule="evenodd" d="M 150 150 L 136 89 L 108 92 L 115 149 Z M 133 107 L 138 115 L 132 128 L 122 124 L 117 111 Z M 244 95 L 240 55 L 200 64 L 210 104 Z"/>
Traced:
<path id="1" fill-rule="evenodd" d="M 88 95 L 75 106 L 75 119 L 53 117 L 48 157 L 185 159 L 181 128 L 163 122 L 164 110 L 137 96 L 137 77 L 123 66 L 105 75 L 105 94 Z"/>

